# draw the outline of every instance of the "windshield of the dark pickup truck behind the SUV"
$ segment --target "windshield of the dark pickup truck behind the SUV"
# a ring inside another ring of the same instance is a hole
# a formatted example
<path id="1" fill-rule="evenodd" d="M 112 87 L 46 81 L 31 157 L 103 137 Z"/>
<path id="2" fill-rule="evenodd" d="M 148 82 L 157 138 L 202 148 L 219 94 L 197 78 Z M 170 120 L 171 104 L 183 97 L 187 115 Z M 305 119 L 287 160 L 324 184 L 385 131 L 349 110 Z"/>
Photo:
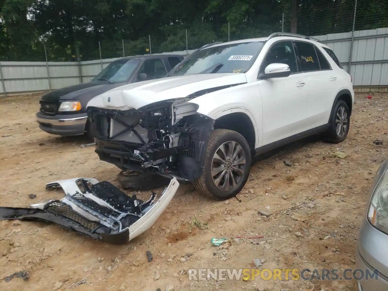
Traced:
<path id="1" fill-rule="evenodd" d="M 126 80 L 130 78 L 139 64 L 140 60 L 138 59 L 124 59 L 114 61 L 105 69 L 103 69 L 97 76 L 95 76 L 92 82 L 104 80 L 111 83 L 126 82 Z"/>

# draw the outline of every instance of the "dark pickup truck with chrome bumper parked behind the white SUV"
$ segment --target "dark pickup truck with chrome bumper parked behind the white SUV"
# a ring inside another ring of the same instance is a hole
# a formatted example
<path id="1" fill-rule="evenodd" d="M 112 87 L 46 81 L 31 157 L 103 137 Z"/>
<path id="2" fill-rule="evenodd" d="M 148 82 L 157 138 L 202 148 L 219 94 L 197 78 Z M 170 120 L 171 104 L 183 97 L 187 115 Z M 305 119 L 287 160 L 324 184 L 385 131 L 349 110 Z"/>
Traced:
<path id="1" fill-rule="evenodd" d="M 183 59 L 173 54 L 125 57 L 109 64 L 89 83 L 48 92 L 36 113 L 39 128 L 62 136 L 90 135 L 86 110 L 90 99 L 129 83 L 163 78 Z"/>

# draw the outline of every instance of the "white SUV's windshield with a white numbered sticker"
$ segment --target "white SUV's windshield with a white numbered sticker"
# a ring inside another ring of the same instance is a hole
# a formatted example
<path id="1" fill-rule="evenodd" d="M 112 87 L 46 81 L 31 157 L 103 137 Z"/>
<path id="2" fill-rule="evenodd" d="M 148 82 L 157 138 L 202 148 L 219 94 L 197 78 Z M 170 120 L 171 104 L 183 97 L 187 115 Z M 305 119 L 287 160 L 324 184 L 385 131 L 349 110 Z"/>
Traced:
<path id="1" fill-rule="evenodd" d="M 242 42 L 202 49 L 189 56 L 173 74 L 245 73 L 262 46 L 263 42 Z"/>

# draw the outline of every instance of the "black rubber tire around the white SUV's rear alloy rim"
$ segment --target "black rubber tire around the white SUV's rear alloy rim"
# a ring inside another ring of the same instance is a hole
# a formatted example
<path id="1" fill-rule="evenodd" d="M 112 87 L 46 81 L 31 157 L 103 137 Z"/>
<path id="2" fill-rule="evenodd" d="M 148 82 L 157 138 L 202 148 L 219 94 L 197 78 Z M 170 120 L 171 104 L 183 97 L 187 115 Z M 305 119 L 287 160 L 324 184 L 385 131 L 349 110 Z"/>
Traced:
<path id="1" fill-rule="evenodd" d="M 343 109 L 344 112 L 346 113 L 346 129 L 343 130 L 342 128 L 340 134 L 338 134 L 336 129 L 338 122 L 340 122 L 340 127 L 341 127 L 341 124 L 345 124 L 344 122 L 345 120 L 342 121 L 341 123 L 341 120 L 338 118 L 339 116 L 337 114 L 339 113 L 340 109 L 341 110 Z M 349 107 L 345 101 L 338 100 L 336 103 L 336 106 L 334 106 L 333 112 L 330 115 L 329 129 L 324 133 L 325 140 L 333 144 L 338 144 L 340 142 L 343 142 L 346 139 L 346 136 L 348 135 L 349 125 L 350 125 Z"/>

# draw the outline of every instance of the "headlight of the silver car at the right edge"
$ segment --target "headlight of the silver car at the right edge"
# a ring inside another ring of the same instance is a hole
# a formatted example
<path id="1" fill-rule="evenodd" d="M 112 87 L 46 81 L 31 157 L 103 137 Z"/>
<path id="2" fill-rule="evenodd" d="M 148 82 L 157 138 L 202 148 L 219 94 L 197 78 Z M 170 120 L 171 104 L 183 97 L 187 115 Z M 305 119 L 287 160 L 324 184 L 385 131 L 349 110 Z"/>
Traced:
<path id="1" fill-rule="evenodd" d="M 369 222 L 388 234 L 388 168 L 382 169 L 378 184 L 372 189 L 367 218 Z M 378 178 L 378 177 L 377 177 Z"/>

